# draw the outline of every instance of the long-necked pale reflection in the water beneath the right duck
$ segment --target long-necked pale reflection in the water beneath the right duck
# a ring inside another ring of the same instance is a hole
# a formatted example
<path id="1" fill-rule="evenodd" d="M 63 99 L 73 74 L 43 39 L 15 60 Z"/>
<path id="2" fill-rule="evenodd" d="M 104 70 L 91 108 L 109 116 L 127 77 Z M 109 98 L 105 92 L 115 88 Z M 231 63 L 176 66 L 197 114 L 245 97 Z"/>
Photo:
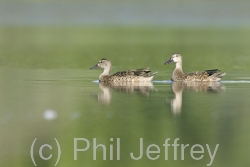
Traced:
<path id="1" fill-rule="evenodd" d="M 171 110 L 175 115 L 181 113 L 182 92 L 184 89 L 194 90 L 196 92 L 213 92 L 217 93 L 224 90 L 225 87 L 220 82 L 173 82 L 172 90 L 175 98 L 171 100 Z"/>

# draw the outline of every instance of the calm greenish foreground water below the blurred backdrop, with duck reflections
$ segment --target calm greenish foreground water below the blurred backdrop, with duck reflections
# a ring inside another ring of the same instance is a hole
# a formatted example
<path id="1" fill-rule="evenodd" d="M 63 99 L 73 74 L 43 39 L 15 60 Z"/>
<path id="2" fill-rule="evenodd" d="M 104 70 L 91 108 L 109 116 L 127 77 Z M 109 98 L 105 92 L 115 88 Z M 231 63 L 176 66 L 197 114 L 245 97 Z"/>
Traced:
<path id="1" fill-rule="evenodd" d="M 55 139 L 57 166 L 250 165 L 249 80 L 104 85 L 93 82 L 99 72 L 0 69 L 1 166 L 34 166 L 35 139 L 37 166 L 56 164 Z M 76 138 L 82 139 L 76 147 L 86 151 L 74 160 Z M 95 149 L 95 142 L 102 145 Z M 51 148 L 41 149 L 44 144 Z M 182 153 L 181 144 L 189 144 Z M 41 159 L 39 150 L 51 159 Z"/>

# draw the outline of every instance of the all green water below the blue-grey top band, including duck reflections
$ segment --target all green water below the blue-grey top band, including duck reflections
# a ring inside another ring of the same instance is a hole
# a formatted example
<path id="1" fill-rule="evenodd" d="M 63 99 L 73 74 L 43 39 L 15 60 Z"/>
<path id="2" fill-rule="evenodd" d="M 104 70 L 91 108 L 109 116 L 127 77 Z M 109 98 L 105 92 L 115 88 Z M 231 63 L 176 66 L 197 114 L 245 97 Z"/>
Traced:
<path id="1" fill-rule="evenodd" d="M 212 166 L 249 166 L 249 34 L 243 28 L 1 28 L 1 166 L 34 166 L 36 138 L 37 166 L 55 165 L 55 138 L 57 166 L 207 166 L 206 144 L 212 153 L 219 144 Z M 174 65 L 163 64 L 176 52 L 186 72 L 220 68 L 227 75 L 221 85 L 173 85 Z M 149 66 L 158 74 L 152 85 L 99 85 L 93 81 L 101 70 L 89 67 L 103 57 L 112 60 L 113 72 Z M 77 160 L 75 138 L 90 146 Z M 133 160 L 140 138 L 144 154 Z M 177 152 L 169 146 L 166 159 L 168 138 L 171 145 L 179 138 L 180 146 Z M 106 146 L 106 160 L 101 147 L 94 160 L 94 139 Z M 50 160 L 39 156 L 43 144 L 52 147 L 42 149 Z M 156 160 L 146 154 L 151 144 Z M 181 144 L 189 144 L 184 157 Z M 200 160 L 190 154 L 195 144 L 204 148 L 194 153 L 204 155 Z"/>

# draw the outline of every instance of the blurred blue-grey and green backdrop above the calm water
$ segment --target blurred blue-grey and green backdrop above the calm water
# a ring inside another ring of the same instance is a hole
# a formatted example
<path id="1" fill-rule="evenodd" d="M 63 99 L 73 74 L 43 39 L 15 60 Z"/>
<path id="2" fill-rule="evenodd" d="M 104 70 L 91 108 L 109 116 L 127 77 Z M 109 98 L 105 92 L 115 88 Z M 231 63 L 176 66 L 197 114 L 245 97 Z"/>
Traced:
<path id="1" fill-rule="evenodd" d="M 0 66 L 114 69 L 162 64 L 173 53 L 184 70 L 248 70 L 247 1 L 1 1 Z M 187 71 L 185 70 L 185 71 Z"/>

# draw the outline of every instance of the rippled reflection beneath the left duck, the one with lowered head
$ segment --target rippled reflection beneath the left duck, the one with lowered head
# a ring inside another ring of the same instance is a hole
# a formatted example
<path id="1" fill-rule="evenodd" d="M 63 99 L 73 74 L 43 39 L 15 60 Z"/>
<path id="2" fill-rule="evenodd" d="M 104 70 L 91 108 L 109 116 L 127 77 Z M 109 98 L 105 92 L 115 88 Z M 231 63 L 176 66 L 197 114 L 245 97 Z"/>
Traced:
<path id="1" fill-rule="evenodd" d="M 102 104 L 109 104 L 112 99 L 110 88 L 123 93 L 138 93 L 144 96 L 149 96 L 149 92 L 154 90 L 151 82 L 119 82 L 119 83 L 99 83 L 103 93 L 97 95 L 98 101 Z"/>

